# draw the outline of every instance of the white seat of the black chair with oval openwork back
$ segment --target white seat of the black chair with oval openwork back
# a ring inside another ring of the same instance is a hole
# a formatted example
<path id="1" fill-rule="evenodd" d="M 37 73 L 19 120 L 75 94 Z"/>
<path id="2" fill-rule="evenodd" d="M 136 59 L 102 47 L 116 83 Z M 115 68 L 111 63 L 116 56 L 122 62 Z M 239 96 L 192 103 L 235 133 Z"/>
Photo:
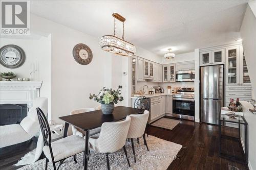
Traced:
<path id="1" fill-rule="evenodd" d="M 68 136 L 51 143 L 54 161 L 76 155 L 84 151 L 85 140 L 77 135 Z M 45 156 L 52 161 L 50 149 L 45 146 L 43 149 Z"/>

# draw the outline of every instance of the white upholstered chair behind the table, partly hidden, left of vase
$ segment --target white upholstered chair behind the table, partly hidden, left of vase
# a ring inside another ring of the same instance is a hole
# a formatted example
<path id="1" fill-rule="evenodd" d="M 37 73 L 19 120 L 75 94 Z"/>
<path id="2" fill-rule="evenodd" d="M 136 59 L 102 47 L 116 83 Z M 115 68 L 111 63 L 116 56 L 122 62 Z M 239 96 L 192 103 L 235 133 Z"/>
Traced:
<path id="1" fill-rule="evenodd" d="M 90 112 L 90 111 L 94 111 L 94 110 L 95 110 L 95 108 L 82 108 L 82 109 L 73 110 L 73 111 L 71 111 L 70 114 L 86 113 L 86 112 Z M 99 132 L 100 132 L 100 127 L 90 130 L 90 135 L 92 136 Z M 73 133 L 73 135 L 79 135 L 80 137 L 84 137 L 84 135 L 85 135 L 84 131 L 77 129 L 74 126 L 72 126 L 72 133 Z"/>

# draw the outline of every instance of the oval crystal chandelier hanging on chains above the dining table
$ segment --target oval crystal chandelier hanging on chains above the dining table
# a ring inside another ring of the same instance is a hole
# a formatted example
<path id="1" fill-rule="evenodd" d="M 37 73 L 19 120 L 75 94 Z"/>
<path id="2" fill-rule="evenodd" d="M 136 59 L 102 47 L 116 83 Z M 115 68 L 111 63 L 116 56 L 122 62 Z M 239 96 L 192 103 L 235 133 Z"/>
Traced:
<path id="1" fill-rule="evenodd" d="M 127 41 L 124 41 L 124 21 L 125 18 L 119 15 L 118 13 L 113 13 L 114 17 L 114 36 L 113 35 L 104 35 L 101 37 L 99 45 L 102 50 L 118 54 L 121 56 L 133 56 L 136 52 L 135 46 Z M 123 22 L 123 36 L 122 39 L 116 37 L 116 19 Z"/>

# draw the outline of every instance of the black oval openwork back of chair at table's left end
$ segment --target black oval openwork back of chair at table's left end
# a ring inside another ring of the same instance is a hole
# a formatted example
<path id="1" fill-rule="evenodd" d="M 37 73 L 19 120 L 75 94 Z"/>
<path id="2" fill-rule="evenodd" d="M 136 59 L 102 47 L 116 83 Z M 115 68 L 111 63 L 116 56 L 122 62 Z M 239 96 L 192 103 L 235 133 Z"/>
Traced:
<path id="1" fill-rule="evenodd" d="M 47 146 L 50 146 L 52 141 L 52 136 L 51 136 L 51 130 L 50 130 L 50 126 L 48 124 L 47 118 L 44 112 L 42 112 L 42 110 L 39 107 L 36 108 L 36 111 L 37 111 L 42 138 L 44 139 L 44 144 Z"/>

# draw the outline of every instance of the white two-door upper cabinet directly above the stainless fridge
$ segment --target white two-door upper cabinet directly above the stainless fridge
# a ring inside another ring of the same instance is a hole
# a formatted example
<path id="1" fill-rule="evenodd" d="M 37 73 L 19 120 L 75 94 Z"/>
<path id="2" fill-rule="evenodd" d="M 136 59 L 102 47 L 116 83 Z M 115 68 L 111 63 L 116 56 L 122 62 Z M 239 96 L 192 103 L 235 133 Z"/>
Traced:
<path id="1" fill-rule="evenodd" d="M 219 49 L 200 53 L 200 66 L 225 63 L 225 50 Z"/>

